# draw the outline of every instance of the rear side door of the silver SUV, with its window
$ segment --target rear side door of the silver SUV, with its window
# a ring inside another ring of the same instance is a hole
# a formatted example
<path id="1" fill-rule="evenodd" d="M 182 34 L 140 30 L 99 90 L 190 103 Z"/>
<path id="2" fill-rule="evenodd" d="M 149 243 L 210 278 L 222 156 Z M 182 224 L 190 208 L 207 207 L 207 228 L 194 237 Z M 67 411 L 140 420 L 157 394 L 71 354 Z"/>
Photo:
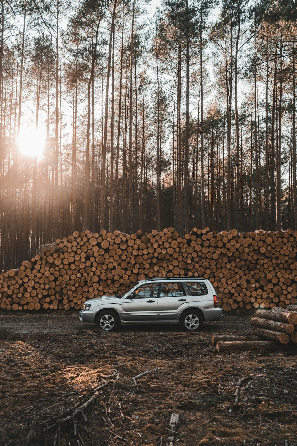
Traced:
<path id="1" fill-rule="evenodd" d="M 162 282 L 158 298 L 158 321 L 177 321 L 188 306 L 182 282 Z"/>

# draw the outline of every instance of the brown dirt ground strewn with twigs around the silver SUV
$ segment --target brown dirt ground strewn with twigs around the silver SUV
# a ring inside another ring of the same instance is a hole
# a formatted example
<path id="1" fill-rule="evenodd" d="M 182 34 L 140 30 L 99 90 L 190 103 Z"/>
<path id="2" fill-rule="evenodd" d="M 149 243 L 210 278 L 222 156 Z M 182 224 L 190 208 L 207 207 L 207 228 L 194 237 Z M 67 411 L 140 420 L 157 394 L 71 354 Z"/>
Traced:
<path id="1" fill-rule="evenodd" d="M 0 445 L 297 445 L 296 350 L 211 346 L 249 318 L 102 333 L 78 312 L 0 314 Z"/>

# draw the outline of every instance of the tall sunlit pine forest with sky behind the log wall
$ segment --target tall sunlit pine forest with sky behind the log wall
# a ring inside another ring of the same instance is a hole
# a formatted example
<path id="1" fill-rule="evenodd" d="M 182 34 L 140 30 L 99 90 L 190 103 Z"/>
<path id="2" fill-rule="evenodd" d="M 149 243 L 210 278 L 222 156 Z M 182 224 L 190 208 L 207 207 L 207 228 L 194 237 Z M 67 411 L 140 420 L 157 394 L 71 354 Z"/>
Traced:
<path id="1" fill-rule="evenodd" d="M 297 4 L 1 0 L 0 267 L 74 230 L 296 227 Z"/>

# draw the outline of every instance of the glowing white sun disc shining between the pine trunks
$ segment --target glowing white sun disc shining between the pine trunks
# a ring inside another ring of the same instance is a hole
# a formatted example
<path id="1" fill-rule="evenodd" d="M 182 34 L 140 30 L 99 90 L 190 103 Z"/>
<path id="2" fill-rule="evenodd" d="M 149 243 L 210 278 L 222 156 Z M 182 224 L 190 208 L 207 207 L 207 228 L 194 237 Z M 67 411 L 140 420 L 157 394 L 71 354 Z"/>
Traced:
<path id="1" fill-rule="evenodd" d="M 45 132 L 31 127 L 21 127 L 18 138 L 21 153 L 31 157 L 40 156 L 45 149 Z"/>

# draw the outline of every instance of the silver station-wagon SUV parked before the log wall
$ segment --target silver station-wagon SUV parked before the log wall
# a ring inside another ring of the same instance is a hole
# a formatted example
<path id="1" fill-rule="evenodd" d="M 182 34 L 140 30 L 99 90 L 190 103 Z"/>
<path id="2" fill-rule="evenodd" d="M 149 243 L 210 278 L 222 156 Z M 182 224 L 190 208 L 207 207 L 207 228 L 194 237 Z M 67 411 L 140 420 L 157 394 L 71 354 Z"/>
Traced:
<path id="1" fill-rule="evenodd" d="M 181 323 L 189 331 L 201 330 L 203 321 L 223 315 L 210 281 L 200 277 L 154 278 L 137 282 L 125 293 L 85 301 L 79 318 L 97 323 L 104 331 L 120 324 Z"/>

